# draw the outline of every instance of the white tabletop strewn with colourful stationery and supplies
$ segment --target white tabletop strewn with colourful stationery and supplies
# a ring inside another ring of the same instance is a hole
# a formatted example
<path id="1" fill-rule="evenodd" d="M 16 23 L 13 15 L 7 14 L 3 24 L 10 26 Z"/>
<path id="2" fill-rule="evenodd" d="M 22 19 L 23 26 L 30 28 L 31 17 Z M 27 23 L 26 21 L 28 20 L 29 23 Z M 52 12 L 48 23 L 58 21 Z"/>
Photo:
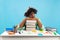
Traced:
<path id="1" fill-rule="evenodd" d="M 32 31 L 23 31 L 23 33 L 19 34 L 19 33 L 15 33 L 13 35 L 9 35 L 7 33 L 7 31 L 3 32 L 1 34 L 1 36 L 60 36 L 58 33 L 56 33 L 57 35 L 54 35 L 52 32 L 48 32 L 47 31 L 37 31 L 37 32 L 32 32 Z"/>

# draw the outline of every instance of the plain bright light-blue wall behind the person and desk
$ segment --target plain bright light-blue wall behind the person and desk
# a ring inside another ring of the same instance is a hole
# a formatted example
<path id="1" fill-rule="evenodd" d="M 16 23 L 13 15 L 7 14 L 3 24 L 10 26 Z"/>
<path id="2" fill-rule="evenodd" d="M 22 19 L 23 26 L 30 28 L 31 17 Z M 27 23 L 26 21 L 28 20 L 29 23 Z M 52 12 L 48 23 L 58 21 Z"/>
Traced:
<path id="1" fill-rule="evenodd" d="M 60 0 L 0 0 L 0 33 L 19 24 L 29 6 L 38 10 L 36 16 L 43 25 L 55 27 L 60 33 Z"/>

